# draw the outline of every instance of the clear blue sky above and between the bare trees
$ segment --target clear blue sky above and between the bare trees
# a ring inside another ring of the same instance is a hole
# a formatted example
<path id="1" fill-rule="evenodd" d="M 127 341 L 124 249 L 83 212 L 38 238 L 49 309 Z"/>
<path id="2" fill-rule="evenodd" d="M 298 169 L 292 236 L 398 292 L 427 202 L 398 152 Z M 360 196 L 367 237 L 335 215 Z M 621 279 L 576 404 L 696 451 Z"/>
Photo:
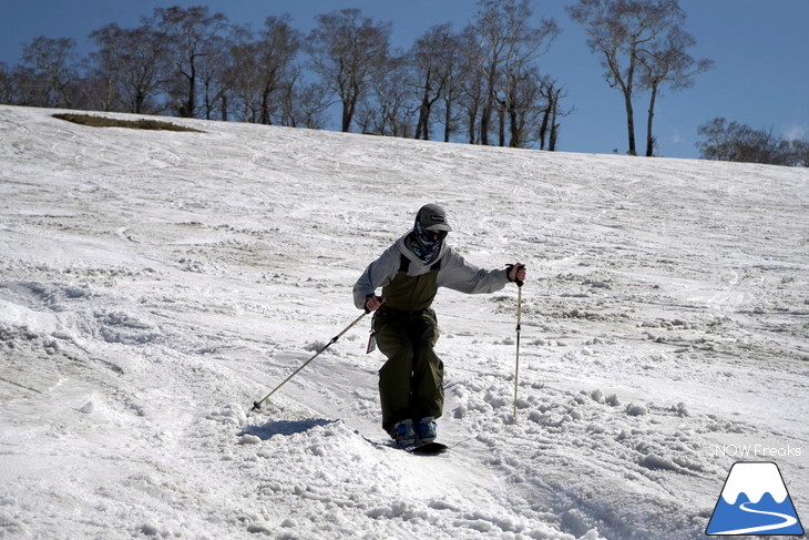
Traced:
<path id="1" fill-rule="evenodd" d="M 135 26 L 155 7 L 207 6 L 233 23 L 263 24 L 267 16 L 289 13 L 308 32 L 320 13 L 358 8 L 373 19 L 392 21 L 395 47 L 407 49 L 429 27 L 463 27 L 477 11 L 473 0 L 0 0 L 0 62 L 20 61 L 22 44 L 38 35 L 73 38 L 81 53 L 92 50 L 88 34 L 116 22 Z M 561 37 L 541 59 L 544 72 L 565 84 L 563 105 L 575 108 L 562 120 L 557 150 L 625 153 L 626 116 L 621 92 L 607 86 L 598 59 L 564 8 L 574 0 L 536 0 L 536 16 L 562 27 Z M 771 128 L 776 135 L 809 137 L 809 0 L 680 0 L 686 29 L 697 39 L 695 58 L 716 62 L 696 85 L 664 91 L 655 109 L 662 155 L 696 157 L 697 126 L 716 116 Z M 637 150 L 645 151 L 647 95 L 635 101 Z M 335 124 L 330 129 L 337 129 Z"/>

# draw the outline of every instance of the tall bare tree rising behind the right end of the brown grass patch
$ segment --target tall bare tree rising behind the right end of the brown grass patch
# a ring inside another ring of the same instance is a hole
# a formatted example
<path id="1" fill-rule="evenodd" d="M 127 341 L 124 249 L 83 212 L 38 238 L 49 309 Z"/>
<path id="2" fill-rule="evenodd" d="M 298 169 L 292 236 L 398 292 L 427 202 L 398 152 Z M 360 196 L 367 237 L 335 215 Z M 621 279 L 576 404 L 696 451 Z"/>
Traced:
<path id="1" fill-rule="evenodd" d="M 170 58 L 184 84 L 174 84 L 170 92 L 185 90 L 175 98 L 178 101 L 181 116 L 194 118 L 197 110 L 197 85 L 199 59 L 215 54 L 215 47 L 221 41 L 215 39 L 225 30 L 227 18 L 223 13 L 211 14 L 208 8 L 194 6 L 184 9 L 156 8 L 155 18 L 160 29 L 165 33 L 170 48 Z M 180 82 L 180 81 L 177 81 Z"/>

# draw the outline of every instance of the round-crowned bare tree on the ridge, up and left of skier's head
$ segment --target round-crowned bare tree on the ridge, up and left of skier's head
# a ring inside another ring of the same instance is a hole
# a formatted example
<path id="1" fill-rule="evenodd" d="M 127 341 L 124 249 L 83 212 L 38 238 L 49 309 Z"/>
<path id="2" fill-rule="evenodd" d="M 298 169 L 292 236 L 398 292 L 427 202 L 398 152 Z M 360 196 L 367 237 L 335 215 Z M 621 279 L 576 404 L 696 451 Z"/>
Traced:
<path id="1" fill-rule="evenodd" d="M 362 93 L 388 58 L 391 23 L 357 9 L 318 16 L 317 22 L 309 34 L 313 67 L 342 103 L 340 125 L 348 132 Z"/>

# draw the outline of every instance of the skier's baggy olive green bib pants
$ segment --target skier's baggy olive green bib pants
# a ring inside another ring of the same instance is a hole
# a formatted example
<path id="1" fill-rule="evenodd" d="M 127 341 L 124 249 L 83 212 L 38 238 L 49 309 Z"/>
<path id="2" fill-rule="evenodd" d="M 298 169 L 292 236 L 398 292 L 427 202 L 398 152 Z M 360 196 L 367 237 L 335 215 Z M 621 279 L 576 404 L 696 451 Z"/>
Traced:
<path id="1" fill-rule="evenodd" d="M 408 418 L 438 418 L 443 410 L 443 363 L 432 350 L 438 342 L 438 319 L 430 309 L 438 292 L 440 263 L 428 274 L 407 275 L 408 262 L 382 287 L 385 304 L 373 316 L 377 346 L 388 360 L 379 370 L 382 428 Z"/>

